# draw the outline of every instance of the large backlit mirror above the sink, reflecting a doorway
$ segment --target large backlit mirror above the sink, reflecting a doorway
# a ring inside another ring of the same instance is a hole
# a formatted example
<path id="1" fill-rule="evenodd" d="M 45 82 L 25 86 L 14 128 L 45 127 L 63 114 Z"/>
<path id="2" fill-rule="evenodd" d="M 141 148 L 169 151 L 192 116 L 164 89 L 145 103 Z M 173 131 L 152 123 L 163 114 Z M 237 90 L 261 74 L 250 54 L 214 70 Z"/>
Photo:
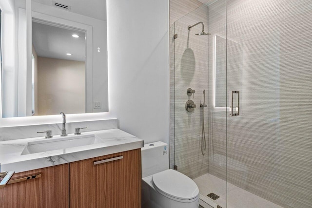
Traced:
<path id="1" fill-rule="evenodd" d="M 107 112 L 106 1 L 2 4 L 2 117 Z"/>

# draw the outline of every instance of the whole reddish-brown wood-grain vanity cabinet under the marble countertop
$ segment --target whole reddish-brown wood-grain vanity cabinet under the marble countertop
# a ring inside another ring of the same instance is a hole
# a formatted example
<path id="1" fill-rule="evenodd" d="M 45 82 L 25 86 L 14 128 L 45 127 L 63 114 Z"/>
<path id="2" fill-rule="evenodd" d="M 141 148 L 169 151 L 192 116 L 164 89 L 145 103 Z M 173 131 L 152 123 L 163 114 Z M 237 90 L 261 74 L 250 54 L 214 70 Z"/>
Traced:
<path id="1" fill-rule="evenodd" d="M 96 164 L 99 163 L 99 164 Z M 141 208 L 141 150 L 16 173 L 0 208 Z"/>

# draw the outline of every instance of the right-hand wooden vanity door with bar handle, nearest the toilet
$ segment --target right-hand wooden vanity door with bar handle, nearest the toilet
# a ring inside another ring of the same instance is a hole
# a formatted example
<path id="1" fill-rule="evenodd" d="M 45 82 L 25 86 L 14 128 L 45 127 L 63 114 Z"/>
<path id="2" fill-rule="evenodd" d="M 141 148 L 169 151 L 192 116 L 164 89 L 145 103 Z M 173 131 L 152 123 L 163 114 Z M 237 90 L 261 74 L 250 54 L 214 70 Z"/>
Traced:
<path id="1" fill-rule="evenodd" d="M 70 207 L 141 208 L 141 150 L 70 163 Z"/>

